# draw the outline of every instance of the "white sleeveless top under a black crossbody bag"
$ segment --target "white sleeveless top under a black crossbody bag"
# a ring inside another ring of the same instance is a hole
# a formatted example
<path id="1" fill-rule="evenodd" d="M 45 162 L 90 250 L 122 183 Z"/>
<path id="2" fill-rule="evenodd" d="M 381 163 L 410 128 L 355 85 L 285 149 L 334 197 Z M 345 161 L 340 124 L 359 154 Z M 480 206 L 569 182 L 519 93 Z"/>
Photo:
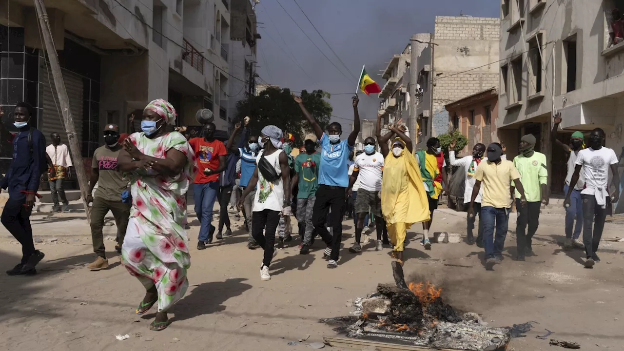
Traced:
<path id="1" fill-rule="evenodd" d="M 275 172 L 281 174 L 280 168 L 280 154 L 282 150 L 273 152 L 268 156 L 265 156 L 266 161 L 273 165 Z M 258 153 L 256 158 L 256 165 L 260 162 L 261 157 L 265 151 Z M 269 182 L 262 176 L 260 170 L 258 170 L 258 185 L 256 188 L 256 195 L 253 199 L 253 212 L 260 212 L 262 210 L 274 210 L 281 212 L 284 204 L 284 184 L 279 177 L 275 182 Z"/>

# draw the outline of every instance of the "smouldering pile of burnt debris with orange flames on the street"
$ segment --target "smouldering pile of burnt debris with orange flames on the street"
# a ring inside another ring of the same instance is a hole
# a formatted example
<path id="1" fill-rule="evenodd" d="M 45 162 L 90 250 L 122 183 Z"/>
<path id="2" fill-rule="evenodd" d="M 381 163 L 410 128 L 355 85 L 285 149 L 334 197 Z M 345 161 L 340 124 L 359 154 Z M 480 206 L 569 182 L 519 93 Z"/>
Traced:
<path id="1" fill-rule="evenodd" d="M 429 282 L 406 284 L 401 265 L 392 262 L 396 285 L 356 299 L 355 317 L 321 320 L 346 337 L 431 349 L 504 351 L 510 328 L 489 327 L 478 314 L 457 312 L 444 303 L 442 289 Z"/>

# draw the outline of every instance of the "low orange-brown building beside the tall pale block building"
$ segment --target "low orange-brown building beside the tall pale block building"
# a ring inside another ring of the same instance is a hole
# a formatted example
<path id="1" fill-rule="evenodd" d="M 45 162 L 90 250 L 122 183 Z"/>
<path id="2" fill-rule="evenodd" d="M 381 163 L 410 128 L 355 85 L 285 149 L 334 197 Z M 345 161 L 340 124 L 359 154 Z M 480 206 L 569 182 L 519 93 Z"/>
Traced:
<path id="1" fill-rule="evenodd" d="M 468 144 L 462 150 L 464 155 L 472 150 L 474 144 L 489 145 L 498 141 L 496 120 L 499 117 L 499 94 L 495 87 L 477 94 L 464 97 L 445 106 L 451 117 L 453 130 L 468 138 Z"/>

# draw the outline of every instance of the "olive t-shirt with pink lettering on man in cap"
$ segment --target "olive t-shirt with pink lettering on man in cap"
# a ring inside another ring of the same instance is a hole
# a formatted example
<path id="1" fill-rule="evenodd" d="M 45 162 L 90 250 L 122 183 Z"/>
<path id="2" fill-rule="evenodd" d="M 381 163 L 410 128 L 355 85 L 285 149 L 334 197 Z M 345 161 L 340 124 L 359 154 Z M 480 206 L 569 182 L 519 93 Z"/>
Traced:
<path id="1" fill-rule="evenodd" d="M 106 146 L 100 146 L 93 153 L 91 167 L 98 169 L 100 177 L 97 180 L 97 190 L 95 197 L 109 201 L 121 201 L 121 193 L 128 190 L 128 181 L 124 180 L 119 167 L 117 167 L 117 157 L 119 151 L 112 151 Z"/>

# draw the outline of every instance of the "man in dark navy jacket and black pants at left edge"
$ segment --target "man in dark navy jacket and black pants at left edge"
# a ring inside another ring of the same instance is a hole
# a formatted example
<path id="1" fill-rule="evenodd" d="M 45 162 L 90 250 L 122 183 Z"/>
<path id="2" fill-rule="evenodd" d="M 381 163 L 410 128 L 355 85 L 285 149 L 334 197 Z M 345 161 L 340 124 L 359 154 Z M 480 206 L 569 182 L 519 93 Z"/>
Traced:
<path id="1" fill-rule="evenodd" d="M 35 249 L 30 217 L 42 169 L 45 170 L 47 164 L 46 138 L 41 131 L 31 129 L 28 125 L 31 111 L 32 107 L 26 102 L 19 102 L 15 106 L 13 124 L 17 134 L 12 142 L 12 161 L 4 178 L 0 180 L 0 188 L 9 191 L 9 200 L 2 211 L 2 225 L 22 245 L 22 260 L 13 269 L 6 271 L 8 275 L 36 274 L 35 266 L 44 257 L 43 252 Z"/>

